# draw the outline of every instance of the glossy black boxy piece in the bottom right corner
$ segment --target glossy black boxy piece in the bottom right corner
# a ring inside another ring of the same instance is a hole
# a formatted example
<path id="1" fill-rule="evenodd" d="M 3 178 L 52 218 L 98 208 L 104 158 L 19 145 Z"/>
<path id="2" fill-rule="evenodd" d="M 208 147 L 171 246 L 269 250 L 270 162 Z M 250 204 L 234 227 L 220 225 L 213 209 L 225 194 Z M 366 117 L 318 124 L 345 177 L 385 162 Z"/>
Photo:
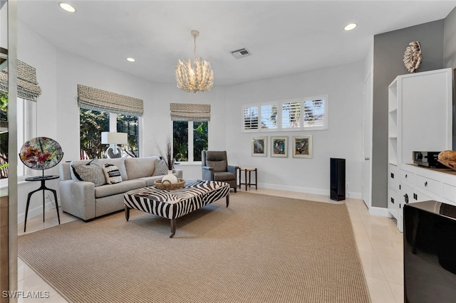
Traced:
<path id="1" fill-rule="evenodd" d="M 424 201 L 403 211 L 404 302 L 456 302 L 456 206 Z"/>

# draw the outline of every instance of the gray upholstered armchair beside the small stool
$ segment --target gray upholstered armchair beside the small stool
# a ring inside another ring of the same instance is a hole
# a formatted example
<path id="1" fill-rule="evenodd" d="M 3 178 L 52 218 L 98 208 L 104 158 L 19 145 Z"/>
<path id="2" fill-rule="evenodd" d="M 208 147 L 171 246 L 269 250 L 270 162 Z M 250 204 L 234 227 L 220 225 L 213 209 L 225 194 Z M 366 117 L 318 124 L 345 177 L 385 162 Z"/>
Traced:
<path id="1" fill-rule="evenodd" d="M 238 166 L 228 165 L 227 151 L 202 151 L 202 179 L 227 182 L 237 192 Z"/>

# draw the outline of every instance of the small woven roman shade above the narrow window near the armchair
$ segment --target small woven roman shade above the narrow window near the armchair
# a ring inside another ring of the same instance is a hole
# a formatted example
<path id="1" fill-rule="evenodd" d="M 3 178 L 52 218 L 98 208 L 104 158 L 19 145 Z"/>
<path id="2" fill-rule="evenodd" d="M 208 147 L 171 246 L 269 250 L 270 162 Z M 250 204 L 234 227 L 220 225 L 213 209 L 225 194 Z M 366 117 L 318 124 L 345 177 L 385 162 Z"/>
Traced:
<path id="1" fill-rule="evenodd" d="M 173 121 L 209 121 L 211 105 L 171 103 L 171 119 Z"/>

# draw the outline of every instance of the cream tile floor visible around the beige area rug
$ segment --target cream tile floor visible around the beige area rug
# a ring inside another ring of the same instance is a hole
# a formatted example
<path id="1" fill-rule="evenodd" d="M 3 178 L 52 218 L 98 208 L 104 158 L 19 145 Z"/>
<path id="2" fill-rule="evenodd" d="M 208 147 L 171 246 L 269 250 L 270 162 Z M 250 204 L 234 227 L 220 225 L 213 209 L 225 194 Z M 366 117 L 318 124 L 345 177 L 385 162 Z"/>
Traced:
<path id="1" fill-rule="evenodd" d="M 242 189 L 242 191 L 245 191 Z M 330 200 L 328 196 L 273 189 L 248 188 L 250 193 L 262 193 L 272 196 L 285 196 L 326 203 L 342 203 Z M 402 233 L 396 228 L 395 220 L 371 216 L 363 201 L 346 198 L 345 201 L 355 232 L 358 252 L 363 262 L 372 303 L 403 303 L 403 242 Z M 61 223 L 76 220 L 73 216 L 61 213 Z M 46 212 L 46 222 L 37 216 L 27 222 L 27 233 L 57 225 L 56 212 Z M 18 225 L 18 234 L 24 234 L 24 223 Z M 50 287 L 30 267 L 18 259 L 18 289 L 24 291 L 49 292 L 47 299 L 18 299 L 21 302 L 66 302 L 55 289 Z"/>

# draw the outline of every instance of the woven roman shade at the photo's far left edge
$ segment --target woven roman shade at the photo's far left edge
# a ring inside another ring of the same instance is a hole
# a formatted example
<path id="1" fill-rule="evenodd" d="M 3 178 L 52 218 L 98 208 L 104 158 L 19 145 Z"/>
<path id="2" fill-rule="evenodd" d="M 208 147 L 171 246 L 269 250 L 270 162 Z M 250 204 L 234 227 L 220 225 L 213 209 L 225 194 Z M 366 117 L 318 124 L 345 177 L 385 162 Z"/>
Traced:
<path id="1" fill-rule="evenodd" d="M 0 72 L 0 91 L 8 92 L 8 68 Z M 36 101 L 39 95 L 41 95 L 41 87 L 36 81 L 36 69 L 17 60 L 17 96 Z"/>

